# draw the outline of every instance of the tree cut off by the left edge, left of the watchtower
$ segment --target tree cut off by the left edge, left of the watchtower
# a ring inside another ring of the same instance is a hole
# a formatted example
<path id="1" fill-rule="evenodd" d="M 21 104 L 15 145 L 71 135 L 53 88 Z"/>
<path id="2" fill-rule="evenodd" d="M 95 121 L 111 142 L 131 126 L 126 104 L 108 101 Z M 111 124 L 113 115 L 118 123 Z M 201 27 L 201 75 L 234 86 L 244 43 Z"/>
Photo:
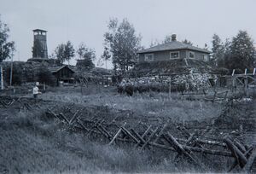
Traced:
<path id="1" fill-rule="evenodd" d="M 9 27 L 0 19 L 0 62 L 10 58 L 15 51 L 15 42 L 9 41 Z"/>

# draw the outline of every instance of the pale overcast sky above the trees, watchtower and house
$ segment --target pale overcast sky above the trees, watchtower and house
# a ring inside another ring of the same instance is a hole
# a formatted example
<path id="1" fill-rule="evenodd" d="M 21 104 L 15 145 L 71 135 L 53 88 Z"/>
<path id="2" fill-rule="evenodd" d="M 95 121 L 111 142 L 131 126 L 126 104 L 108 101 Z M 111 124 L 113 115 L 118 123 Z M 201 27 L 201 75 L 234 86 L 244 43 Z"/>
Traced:
<path id="1" fill-rule="evenodd" d="M 256 0 L 0 0 L 0 14 L 15 41 L 14 61 L 32 57 L 36 28 L 48 31 L 49 55 L 70 40 L 75 49 L 84 42 L 100 58 L 111 18 L 129 20 L 145 48 L 173 33 L 202 48 L 211 47 L 214 33 L 225 40 L 246 30 L 256 41 Z"/>

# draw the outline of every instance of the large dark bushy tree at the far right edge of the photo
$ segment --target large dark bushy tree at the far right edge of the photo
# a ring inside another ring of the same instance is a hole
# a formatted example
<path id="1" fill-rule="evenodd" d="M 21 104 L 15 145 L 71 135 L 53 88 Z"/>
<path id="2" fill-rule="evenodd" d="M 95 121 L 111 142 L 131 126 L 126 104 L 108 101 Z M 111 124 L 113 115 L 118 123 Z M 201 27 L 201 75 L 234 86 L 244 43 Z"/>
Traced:
<path id="1" fill-rule="evenodd" d="M 240 69 L 253 67 L 255 48 L 253 39 L 246 31 L 239 31 L 230 44 L 230 56 L 227 60 L 229 69 Z"/>

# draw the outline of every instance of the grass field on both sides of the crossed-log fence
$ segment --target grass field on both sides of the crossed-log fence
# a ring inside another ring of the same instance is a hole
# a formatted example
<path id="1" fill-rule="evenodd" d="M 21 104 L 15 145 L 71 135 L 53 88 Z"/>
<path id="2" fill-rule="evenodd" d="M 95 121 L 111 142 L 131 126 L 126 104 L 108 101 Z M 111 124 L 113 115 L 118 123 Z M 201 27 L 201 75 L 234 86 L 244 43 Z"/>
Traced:
<path id="1" fill-rule="evenodd" d="M 29 112 L 0 107 L 0 173 L 201 172 L 186 160 L 174 164 L 176 154 L 168 151 L 142 151 L 125 144 L 108 146 L 106 142 L 91 141 L 83 132 L 71 131 L 62 122 L 47 118 L 45 111 L 55 104 L 72 106 L 74 103 L 85 108 L 123 111 L 127 120 L 131 117 L 126 115 L 129 111 L 133 116 L 131 124 L 158 118 L 198 121 L 200 125 L 218 118 L 224 108 L 219 103 L 184 100 L 178 94 L 150 92 L 131 97 L 119 95 L 112 87 L 95 86 L 84 88 L 83 94 L 79 87 L 49 89 L 39 98 L 50 102 Z M 206 159 L 208 171 L 227 171 L 232 162 L 218 160 Z M 220 161 L 225 162 L 219 165 Z"/>

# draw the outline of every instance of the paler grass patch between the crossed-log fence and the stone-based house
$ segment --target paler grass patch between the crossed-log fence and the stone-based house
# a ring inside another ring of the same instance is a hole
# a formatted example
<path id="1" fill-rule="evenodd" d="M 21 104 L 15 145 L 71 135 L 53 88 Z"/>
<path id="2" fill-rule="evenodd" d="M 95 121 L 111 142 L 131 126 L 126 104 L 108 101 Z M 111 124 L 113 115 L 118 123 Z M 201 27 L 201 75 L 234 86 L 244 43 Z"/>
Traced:
<path id="1" fill-rule="evenodd" d="M 40 97 L 84 106 L 107 106 L 113 109 L 131 110 L 144 117 L 155 116 L 180 121 L 211 119 L 217 117 L 222 110 L 222 106 L 218 103 L 183 100 L 176 93 L 171 96 L 155 92 L 125 96 L 108 91 L 82 96 L 78 92 L 48 92 Z"/>

